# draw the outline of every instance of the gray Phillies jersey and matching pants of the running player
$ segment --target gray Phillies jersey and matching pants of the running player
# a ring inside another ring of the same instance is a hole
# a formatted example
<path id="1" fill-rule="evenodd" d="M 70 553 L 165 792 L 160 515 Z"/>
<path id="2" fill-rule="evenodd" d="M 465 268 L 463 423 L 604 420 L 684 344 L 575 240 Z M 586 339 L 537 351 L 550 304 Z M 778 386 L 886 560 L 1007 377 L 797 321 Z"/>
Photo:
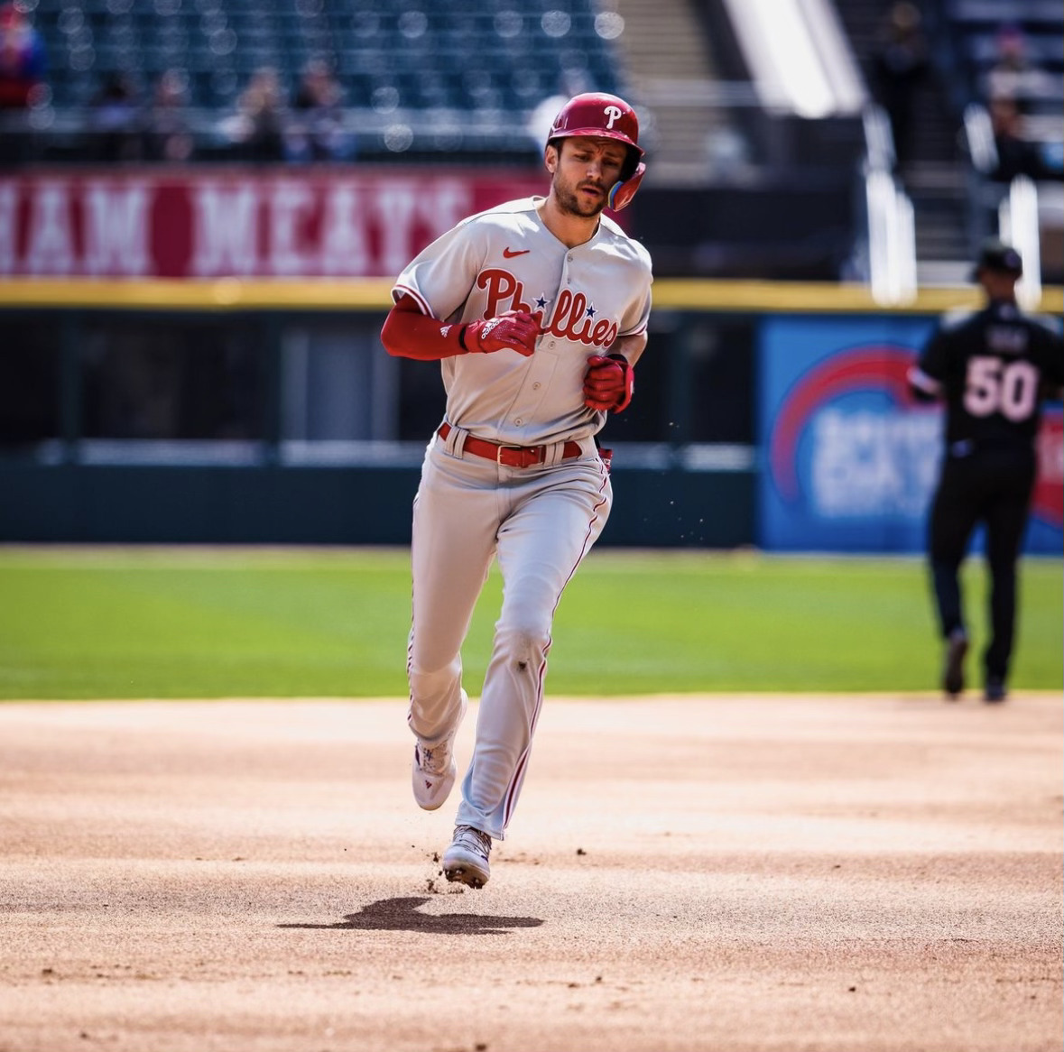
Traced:
<path id="1" fill-rule="evenodd" d="M 502 571 L 502 611 L 458 811 L 459 823 L 495 838 L 504 836 L 528 768 L 554 611 L 613 500 L 594 442 L 605 414 L 584 405 L 587 358 L 645 332 L 650 314 L 646 250 L 604 216 L 588 241 L 566 248 L 539 217 L 543 200 L 470 216 L 426 248 L 393 288 L 396 302 L 410 296 L 443 325 L 523 310 L 545 330 L 530 356 L 508 349 L 442 361 L 451 429 L 430 441 L 414 501 L 408 677 L 418 749 L 446 750 L 456 734 L 465 712 L 461 647 L 493 560 Z M 470 436 L 545 445 L 549 455 L 510 467 L 470 453 Z M 579 455 L 564 451 L 570 441 Z M 412 774 L 420 803 L 442 775 L 426 777 L 419 754 Z M 433 798 L 431 806 L 442 802 Z"/>

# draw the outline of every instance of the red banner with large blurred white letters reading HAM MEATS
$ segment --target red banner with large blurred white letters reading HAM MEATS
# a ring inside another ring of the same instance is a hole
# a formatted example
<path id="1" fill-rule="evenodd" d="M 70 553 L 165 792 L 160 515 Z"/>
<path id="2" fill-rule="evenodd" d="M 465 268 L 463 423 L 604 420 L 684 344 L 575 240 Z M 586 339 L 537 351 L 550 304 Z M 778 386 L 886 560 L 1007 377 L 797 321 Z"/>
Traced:
<path id="1" fill-rule="evenodd" d="M 0 177 L 0 277 L 381 278 L 548 177 L 249 169 Z"/>

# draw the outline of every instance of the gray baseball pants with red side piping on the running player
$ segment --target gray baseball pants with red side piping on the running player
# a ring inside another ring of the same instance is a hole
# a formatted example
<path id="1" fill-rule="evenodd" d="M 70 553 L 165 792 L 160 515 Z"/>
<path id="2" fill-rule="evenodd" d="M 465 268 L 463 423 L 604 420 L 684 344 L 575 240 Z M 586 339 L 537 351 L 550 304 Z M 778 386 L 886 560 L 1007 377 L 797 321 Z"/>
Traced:
<path id="1" fill-rule="evenodd" d="M 543 704 L 554 611 L 605 525 L 613 492 L 592 439 L 583 456 L 510 468 L 463 455 L 462 435 L 433 438 L 414 501 L 408 719 L 428 746 L 456 729 L 462 642 L 497 557 L 502 612 L 455 821 L 501 840 Z"/>

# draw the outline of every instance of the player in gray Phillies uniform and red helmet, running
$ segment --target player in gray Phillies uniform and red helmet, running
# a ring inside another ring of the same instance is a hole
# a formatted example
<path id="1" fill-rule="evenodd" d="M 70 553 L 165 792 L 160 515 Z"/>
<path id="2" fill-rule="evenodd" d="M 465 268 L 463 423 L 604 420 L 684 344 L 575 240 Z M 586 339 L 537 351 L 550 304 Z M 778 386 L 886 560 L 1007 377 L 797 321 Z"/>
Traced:
<path id="1" fill-rule="evenodd" d="M 460 222 L 398 277 L 381 332 L 389 354 L 439 361 L 445 419 L 414 500 L 408 650 L 414 798 L 443 805 L 466 711 L 461 648 L 493 558 L 502 611 L 462 783 L 449 881 L 481 887 L 528 770 L 562 590 L 610 514 L 595 435 L 632 397 L 646 346 L 650 257 L 602 212 L 643 179 L 624 100 L 570 99 L 548 136 L 546 198 Z"/>

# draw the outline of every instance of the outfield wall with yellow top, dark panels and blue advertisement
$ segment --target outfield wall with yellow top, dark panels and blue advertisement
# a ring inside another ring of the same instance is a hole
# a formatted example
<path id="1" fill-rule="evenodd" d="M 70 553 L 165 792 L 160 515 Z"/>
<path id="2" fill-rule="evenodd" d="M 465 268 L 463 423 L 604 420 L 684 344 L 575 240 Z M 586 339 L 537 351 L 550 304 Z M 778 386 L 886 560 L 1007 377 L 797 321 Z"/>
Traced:
<path id="1" fill-rule="evenodd" d="M 941 412 L 904 370 L 974 302 L 659 281 L 602 544 L 921 550 Z M 380 348 L 387 305 L 377 279 L 0 283 L 0 540 L 406 544 L 443 402 Z M 1059 406 L 1040 451 L 1028 547 L 1060 554 Z"/>

